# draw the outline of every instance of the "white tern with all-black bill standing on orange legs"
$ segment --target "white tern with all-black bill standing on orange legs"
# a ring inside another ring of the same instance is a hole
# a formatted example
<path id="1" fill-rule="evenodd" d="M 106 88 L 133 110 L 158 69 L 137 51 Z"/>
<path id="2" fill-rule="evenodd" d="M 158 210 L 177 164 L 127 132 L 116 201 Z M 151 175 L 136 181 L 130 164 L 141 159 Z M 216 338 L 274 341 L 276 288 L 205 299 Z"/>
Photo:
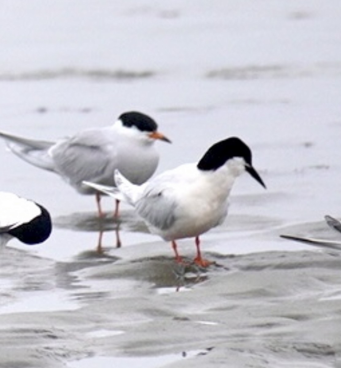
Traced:
<path id="1" fill-rule="evenodd" d="M 224 221 L 232 185 L 244 171 L 265 187 L 252 166 L 251 150 L 232 137 L 210 147 L 198 163 L 165 171 L 142 185 L 132 184 L 118 170 L 117 188 L 85 184 L 134 206 L 152 233 L 171 241 L 177 261 L 182 259 L 175 240 L 195 237 L 194 262 L 208 266 L 200 253 L 199 236 Z"/>

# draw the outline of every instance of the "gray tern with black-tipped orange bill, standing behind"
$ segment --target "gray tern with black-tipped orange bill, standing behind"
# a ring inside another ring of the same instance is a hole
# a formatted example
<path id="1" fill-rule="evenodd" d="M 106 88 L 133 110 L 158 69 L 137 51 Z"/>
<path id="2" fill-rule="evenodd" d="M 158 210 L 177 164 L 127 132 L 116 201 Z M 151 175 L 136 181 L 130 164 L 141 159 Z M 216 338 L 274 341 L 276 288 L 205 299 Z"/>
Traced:
<path id="1" fill-rule="evenodd" d="M 83 130 L 57 142 L 36 141 L 1 133 L 10 150 L 28 163 L 53 171 L 81 194 L 95 194 L 99 216 L 100 194 L 83 180 L 114 185 L 113 172 L 120 170 L 129 181 L 142 184 L 159 163 L 154 142 L 170 142 L 157 131 L 157 124 L 139 112 L 121 114 L 111 126 Z M 114 216 L 118 215 L 118 201 Z"/>

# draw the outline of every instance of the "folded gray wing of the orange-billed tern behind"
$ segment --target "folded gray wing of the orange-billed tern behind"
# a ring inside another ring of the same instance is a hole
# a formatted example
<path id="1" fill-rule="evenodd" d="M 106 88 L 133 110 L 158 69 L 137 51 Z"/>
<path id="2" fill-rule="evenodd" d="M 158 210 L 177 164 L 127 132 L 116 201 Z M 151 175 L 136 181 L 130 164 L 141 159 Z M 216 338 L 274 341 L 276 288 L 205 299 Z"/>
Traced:
<path id="1" fill-rule="evenodd" d="M 114 185 L 113 167 L 116 150 L 102 130 L 87 130 L 56 144 L 50 154 L 56 171 L 70 184 L 82 181 Z"/>

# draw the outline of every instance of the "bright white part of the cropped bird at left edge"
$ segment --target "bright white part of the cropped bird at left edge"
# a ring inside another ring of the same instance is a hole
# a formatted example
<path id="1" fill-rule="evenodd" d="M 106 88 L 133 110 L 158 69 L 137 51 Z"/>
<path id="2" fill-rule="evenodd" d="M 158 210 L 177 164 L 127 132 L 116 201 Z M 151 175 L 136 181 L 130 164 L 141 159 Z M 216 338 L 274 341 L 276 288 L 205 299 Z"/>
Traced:
<path id="1" fill-rule="evenodd" d="M 0 227 L 20 225 L 39 216 L 41 210 L 33 201 L 8 192 L 0 192 Z"/>

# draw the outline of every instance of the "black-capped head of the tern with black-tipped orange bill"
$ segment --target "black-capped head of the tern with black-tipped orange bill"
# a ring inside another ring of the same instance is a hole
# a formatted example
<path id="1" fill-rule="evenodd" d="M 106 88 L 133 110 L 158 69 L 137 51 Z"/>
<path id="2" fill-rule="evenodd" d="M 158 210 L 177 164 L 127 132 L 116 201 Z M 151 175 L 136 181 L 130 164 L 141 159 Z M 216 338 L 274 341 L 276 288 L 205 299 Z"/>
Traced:
<path id="1" fill-rule="evenodd" d="M 122 127 L 127 128 L 127 134 L 135 135 L 149 142 L 160 139 L 171 143 L 165 135 L 157 130 L 156 122 L 146 114 L 137 111 L 125 112 L 118 117 L 118 122 L 122 124 Z"/>

